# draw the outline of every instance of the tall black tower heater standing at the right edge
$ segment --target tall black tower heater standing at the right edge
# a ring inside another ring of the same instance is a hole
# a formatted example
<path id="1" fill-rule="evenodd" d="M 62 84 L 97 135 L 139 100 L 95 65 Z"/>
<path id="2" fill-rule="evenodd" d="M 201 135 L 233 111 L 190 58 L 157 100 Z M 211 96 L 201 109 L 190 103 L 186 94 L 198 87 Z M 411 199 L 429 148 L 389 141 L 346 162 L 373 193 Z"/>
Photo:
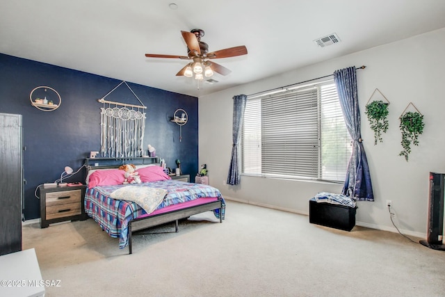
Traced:
<path id="1" fill-rule="evenodd" d="M 419 241 L 433 250 L 445 250 L 444 236 L 445 174 L 430 172 L 430 198 L 428 207 L 428 232 L 426 240 Z"/>

